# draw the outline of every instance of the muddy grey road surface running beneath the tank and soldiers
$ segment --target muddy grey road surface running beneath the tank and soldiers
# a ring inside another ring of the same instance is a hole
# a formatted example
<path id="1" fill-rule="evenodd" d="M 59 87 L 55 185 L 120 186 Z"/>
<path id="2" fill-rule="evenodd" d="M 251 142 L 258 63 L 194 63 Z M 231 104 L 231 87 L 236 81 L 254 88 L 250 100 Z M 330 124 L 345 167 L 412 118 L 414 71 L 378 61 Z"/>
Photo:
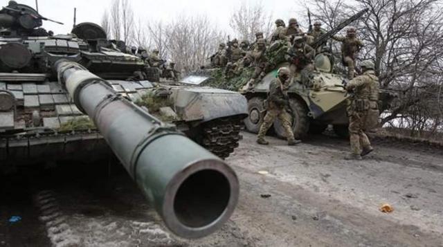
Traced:
<path id="1" fill-rule="evenodd" d="M 314 136 L 296 147 L 269 140 L 256 145 L 244 133 L 228 158 L 239 204 L 209 237 L 171 235 L 118 167 L 71 166 L 3 178 L 0 247 L 443 246 L 442 152 L 378 143 L 363 161 L 344 161 L 348 144 L 338 138 Z M 380 212 L 383 203 L 394 212 Z"/>

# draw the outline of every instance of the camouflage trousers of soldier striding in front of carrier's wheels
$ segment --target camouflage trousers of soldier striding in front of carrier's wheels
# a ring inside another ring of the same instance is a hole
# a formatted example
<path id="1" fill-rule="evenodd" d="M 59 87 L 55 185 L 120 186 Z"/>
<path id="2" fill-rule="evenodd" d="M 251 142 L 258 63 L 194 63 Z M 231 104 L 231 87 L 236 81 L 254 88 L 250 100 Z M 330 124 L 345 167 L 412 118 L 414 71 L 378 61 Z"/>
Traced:
<path id="1" fill-rule="evenodd" d="M 260 131 L 258 132 L 257 138 L 260 139 L 266 136 L 266 132 L 273 125 L 275 118 L 280 120 L 287 140 L 294 140 L 295 138 L 293 137 L 291 126 L 291 115 L 289 115 L 284 108 L 279 107 L 269 107 L 269 109 L 266 111 L 266 116 L 264 116 L 264 120 L 262 126 L 260 126 Z"/>

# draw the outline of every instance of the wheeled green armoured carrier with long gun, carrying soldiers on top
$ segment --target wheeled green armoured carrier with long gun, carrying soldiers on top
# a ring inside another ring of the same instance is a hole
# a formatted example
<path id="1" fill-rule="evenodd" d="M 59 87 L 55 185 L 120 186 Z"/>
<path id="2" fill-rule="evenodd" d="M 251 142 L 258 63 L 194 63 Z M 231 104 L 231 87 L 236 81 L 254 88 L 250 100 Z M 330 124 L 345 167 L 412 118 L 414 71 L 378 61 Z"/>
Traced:
<path id="1" fill-rule="evenodd" d="M 305 138 L 309 133 L 319 134 L 325 131 L 328 125 L 334 127 L 338 136 L 347 137 L 347 91 L 345 84 L 348 82 L 343 73 L 336 73 L 334 69 L 334 56 L 330 48 L 325 46 L 328 39 L 338 33 L 345 26 L 359 19 L 368 10 L 361 10 L 356 15 L 346 19 L 329 32 L 320 36 L 311 44 L 320 51 L 314 59 L 314 71 L 308 75 L 296 74 L 288 91 L 291 110 L 293 133 L 296 138 Z M 248 67 L 238 71 L 235 75 L 228 75 L 224 68 L 209 68 L 197 74 L 208 75 L 208 85 L 224 89 L 239 90 L 248 99 L 248 117 L 244 120 L 246 129 L 258 133 L 264 119 L 265 109 L 263 102 L 267 98 L 269 84 L 277 77 L 279 68 L 289 63 L 284 58 L 287 55 L 287 42 L 275 42 L 269 46 L 266 56 L 271 64 L 269 71 L 260 82 L 255 83 L 252 89 L 242 90 L 253 74 L 254 68 Z M 284 130 L 280 120 L 275 120 L 273 130 L 277 136 L 284 138 Z"/>

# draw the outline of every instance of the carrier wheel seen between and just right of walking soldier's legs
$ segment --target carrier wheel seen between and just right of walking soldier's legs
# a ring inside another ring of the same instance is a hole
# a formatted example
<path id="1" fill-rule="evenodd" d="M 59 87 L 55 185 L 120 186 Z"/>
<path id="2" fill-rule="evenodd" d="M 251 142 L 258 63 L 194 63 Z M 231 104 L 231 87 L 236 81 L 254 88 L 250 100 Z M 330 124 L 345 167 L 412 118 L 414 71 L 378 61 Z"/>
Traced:
<path id="1" fill-rule="evenodd" d="M 309 117 L 307 116 L 307 108 L 299 100 L 291 99 L 289 100 L 291 106 L 291 116 L 292 116 L 292 131 L 296 139 L 305 138 L 307 131 L 309 130 Z M 286 138 L 284 136 L 284 129 L 280 124 L 280 120 L 275 120 L 274 122 L 275 134 L 279 138 Z"/>

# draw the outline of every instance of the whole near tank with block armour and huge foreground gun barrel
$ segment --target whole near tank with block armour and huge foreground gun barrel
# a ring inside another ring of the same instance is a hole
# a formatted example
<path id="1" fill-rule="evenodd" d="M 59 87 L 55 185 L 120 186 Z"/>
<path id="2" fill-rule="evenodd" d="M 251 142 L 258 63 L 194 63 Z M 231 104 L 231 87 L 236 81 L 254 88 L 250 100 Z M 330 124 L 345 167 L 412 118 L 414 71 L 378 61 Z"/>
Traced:
<path id="1" fill-rule="evenodd" d="M 43 20 L 15 1 L 0 10 L 0 169 L 93 164 L 112 152 L 174 234 L 220 228 L 239 193 L 221 158 L 237 146 L 246 99 L 150 81 L 156 68 L 100 26 L 53 35 Z"/>

